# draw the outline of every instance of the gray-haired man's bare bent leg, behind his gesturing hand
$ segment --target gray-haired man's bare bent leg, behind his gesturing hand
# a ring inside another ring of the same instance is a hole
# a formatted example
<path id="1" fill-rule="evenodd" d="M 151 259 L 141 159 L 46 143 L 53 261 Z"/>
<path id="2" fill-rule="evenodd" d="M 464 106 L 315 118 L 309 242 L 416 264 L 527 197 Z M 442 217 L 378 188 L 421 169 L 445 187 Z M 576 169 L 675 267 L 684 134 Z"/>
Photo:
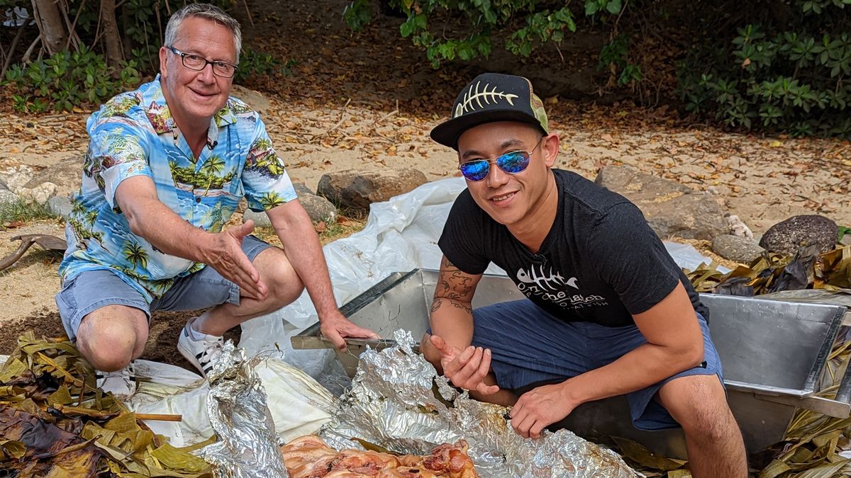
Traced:
<path id="1" fill-rule="evenodd" d="M 192 326 L 201 333 L 222 335 L 232 327 L 280 309 L 298 299 L 305 286 L 280 248 L 267 248 L 254 258 L 254 267 L 266 282 L 266 299 L 241 297 L 239 305 L 220 304 L 203 313 Z"/>

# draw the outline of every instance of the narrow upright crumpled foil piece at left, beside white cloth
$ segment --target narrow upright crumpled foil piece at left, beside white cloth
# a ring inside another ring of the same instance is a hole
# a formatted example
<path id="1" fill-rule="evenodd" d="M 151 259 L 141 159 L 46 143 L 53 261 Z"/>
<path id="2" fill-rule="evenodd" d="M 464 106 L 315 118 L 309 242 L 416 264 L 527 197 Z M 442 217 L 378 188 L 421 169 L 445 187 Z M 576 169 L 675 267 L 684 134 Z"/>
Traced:
<path id="1" fill-rule="evenodd" d="M 288 476 L 266 407 L 266 389 L 254 371 L 262 360 L 247 360 L 228 340 L 207 374 L 207 413 L 219 441 L 203 447 L 201 457 L 213 465 L 217 477 Z"/>

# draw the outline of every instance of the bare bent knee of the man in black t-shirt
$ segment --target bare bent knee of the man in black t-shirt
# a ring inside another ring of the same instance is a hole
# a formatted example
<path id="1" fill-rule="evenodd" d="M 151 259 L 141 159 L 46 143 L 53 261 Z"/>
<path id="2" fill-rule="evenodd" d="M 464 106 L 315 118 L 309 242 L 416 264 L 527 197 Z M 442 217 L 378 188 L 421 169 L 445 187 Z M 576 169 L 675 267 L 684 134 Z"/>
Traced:
<path id="1" fill-rule="evenodd" d="M 660 390 L 660 400 L 686 435 L 722 440 L 737 426 L 727 397 L 715 375 L 677 378 Z"/>

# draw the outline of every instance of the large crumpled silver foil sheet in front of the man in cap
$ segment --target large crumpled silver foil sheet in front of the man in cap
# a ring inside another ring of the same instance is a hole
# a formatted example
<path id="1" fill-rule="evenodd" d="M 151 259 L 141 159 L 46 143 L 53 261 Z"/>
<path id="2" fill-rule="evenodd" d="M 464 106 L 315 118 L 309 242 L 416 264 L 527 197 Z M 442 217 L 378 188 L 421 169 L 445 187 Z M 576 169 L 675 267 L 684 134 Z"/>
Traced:
<path id="1" fill-rule="evenodd" d="M 397 345 L 360 356 L 351 390 L 319 435 L 337 449 L 358 447 L 360 438 L 395 452 L 427 454 L 441 443 L 464 439 L 483 478 L 631 478 L 638 475 L 620 456 L 569 430 L 545 431 L 538 440 L 511 429 L 508 409 L 459 394 L 412 350 L 406 331 Z"/>

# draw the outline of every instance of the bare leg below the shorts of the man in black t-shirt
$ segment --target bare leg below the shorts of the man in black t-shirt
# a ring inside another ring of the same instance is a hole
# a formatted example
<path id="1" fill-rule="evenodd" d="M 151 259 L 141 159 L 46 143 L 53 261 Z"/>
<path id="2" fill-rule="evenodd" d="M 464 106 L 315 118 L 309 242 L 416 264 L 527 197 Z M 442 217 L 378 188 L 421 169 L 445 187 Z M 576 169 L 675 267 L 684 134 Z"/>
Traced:
<path id="1" fill-rule="evenodd" d="M 676 378 L 658 396 L 683 426 L 688 465 L 695 478 L 747 476 L 745 443 L 715 375 Z"/>

